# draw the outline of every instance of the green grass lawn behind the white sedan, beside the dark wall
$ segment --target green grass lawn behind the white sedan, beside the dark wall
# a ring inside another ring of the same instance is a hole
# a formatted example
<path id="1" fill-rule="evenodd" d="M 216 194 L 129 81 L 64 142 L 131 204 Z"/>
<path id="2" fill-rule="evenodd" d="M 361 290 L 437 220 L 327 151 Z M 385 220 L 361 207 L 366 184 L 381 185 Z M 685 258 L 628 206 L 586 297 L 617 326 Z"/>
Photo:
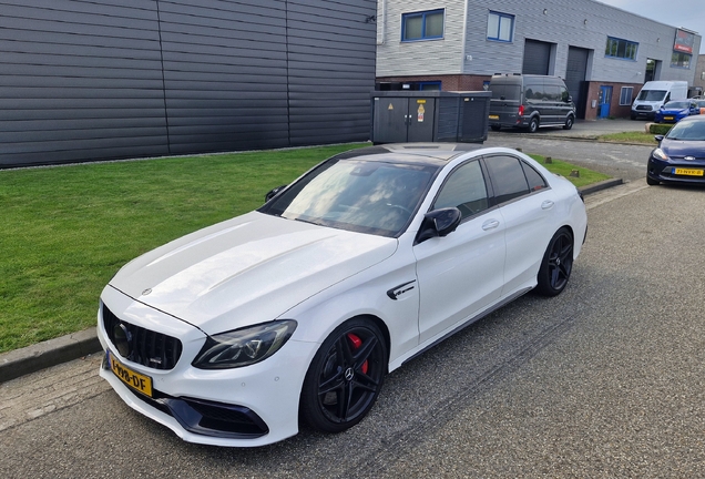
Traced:
<path id="1" fill-rule="evenodd" d="M 102 288 L 130 259 L 359 146 L 0 171 L 0 353 L 93 326 Z M 578 185 L 607 177 L 579 170 Z"/>

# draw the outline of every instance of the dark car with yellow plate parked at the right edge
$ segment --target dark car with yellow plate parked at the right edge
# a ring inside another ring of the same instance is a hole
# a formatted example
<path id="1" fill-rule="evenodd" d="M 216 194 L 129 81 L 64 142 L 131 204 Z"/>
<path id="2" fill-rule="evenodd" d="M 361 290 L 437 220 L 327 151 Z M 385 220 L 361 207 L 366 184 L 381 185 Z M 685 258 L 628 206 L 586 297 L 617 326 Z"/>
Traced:
<path id="1" fill-rule="evenodd" d="M 648 157 L 646 183 L 705 184 L 705 115 L 684 118 L 655 139 L 658 147 Z"/>

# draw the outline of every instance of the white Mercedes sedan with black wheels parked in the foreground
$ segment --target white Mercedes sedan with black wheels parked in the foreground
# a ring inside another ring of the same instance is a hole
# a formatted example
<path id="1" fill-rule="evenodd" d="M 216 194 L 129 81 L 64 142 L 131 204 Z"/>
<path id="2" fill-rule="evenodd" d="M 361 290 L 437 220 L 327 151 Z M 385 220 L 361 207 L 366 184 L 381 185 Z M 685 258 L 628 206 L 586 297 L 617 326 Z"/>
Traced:
<path id="1" fill-rule="evenodd" d="M 343 153 L 120 269 L 100 374 L 191 442 L 343 431 L 387 373 L 531 289 L 560 294 L 586 223 L 578 190 L 514 150 Z"/>

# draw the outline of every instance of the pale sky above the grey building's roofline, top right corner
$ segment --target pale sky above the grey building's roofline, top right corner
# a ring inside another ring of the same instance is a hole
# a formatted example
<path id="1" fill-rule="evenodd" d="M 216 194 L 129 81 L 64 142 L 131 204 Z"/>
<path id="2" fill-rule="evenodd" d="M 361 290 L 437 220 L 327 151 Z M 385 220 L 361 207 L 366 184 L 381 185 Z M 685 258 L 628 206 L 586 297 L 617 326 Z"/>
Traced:
<path id="1" fill-rule="evenodd" d="M 597 0 L 671 27 L 683 27 L 705 35 L 705 7 L 703 0 Z M 705 42 L 701 40 L 701 53 Z"/>

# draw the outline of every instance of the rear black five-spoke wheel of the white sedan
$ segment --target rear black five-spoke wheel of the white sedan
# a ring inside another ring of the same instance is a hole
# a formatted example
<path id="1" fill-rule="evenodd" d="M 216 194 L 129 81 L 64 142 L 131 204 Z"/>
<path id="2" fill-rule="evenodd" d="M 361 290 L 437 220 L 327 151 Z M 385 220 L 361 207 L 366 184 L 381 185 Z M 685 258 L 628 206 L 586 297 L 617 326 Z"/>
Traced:
<path id="1" fill-rule="evenodd" d="M 565 289 L 573 269 L 573 235 L 569 228 L 562 227 L 555 232 L 541 261 L 537 293 L 542 296 L 558 296 Z"/>

